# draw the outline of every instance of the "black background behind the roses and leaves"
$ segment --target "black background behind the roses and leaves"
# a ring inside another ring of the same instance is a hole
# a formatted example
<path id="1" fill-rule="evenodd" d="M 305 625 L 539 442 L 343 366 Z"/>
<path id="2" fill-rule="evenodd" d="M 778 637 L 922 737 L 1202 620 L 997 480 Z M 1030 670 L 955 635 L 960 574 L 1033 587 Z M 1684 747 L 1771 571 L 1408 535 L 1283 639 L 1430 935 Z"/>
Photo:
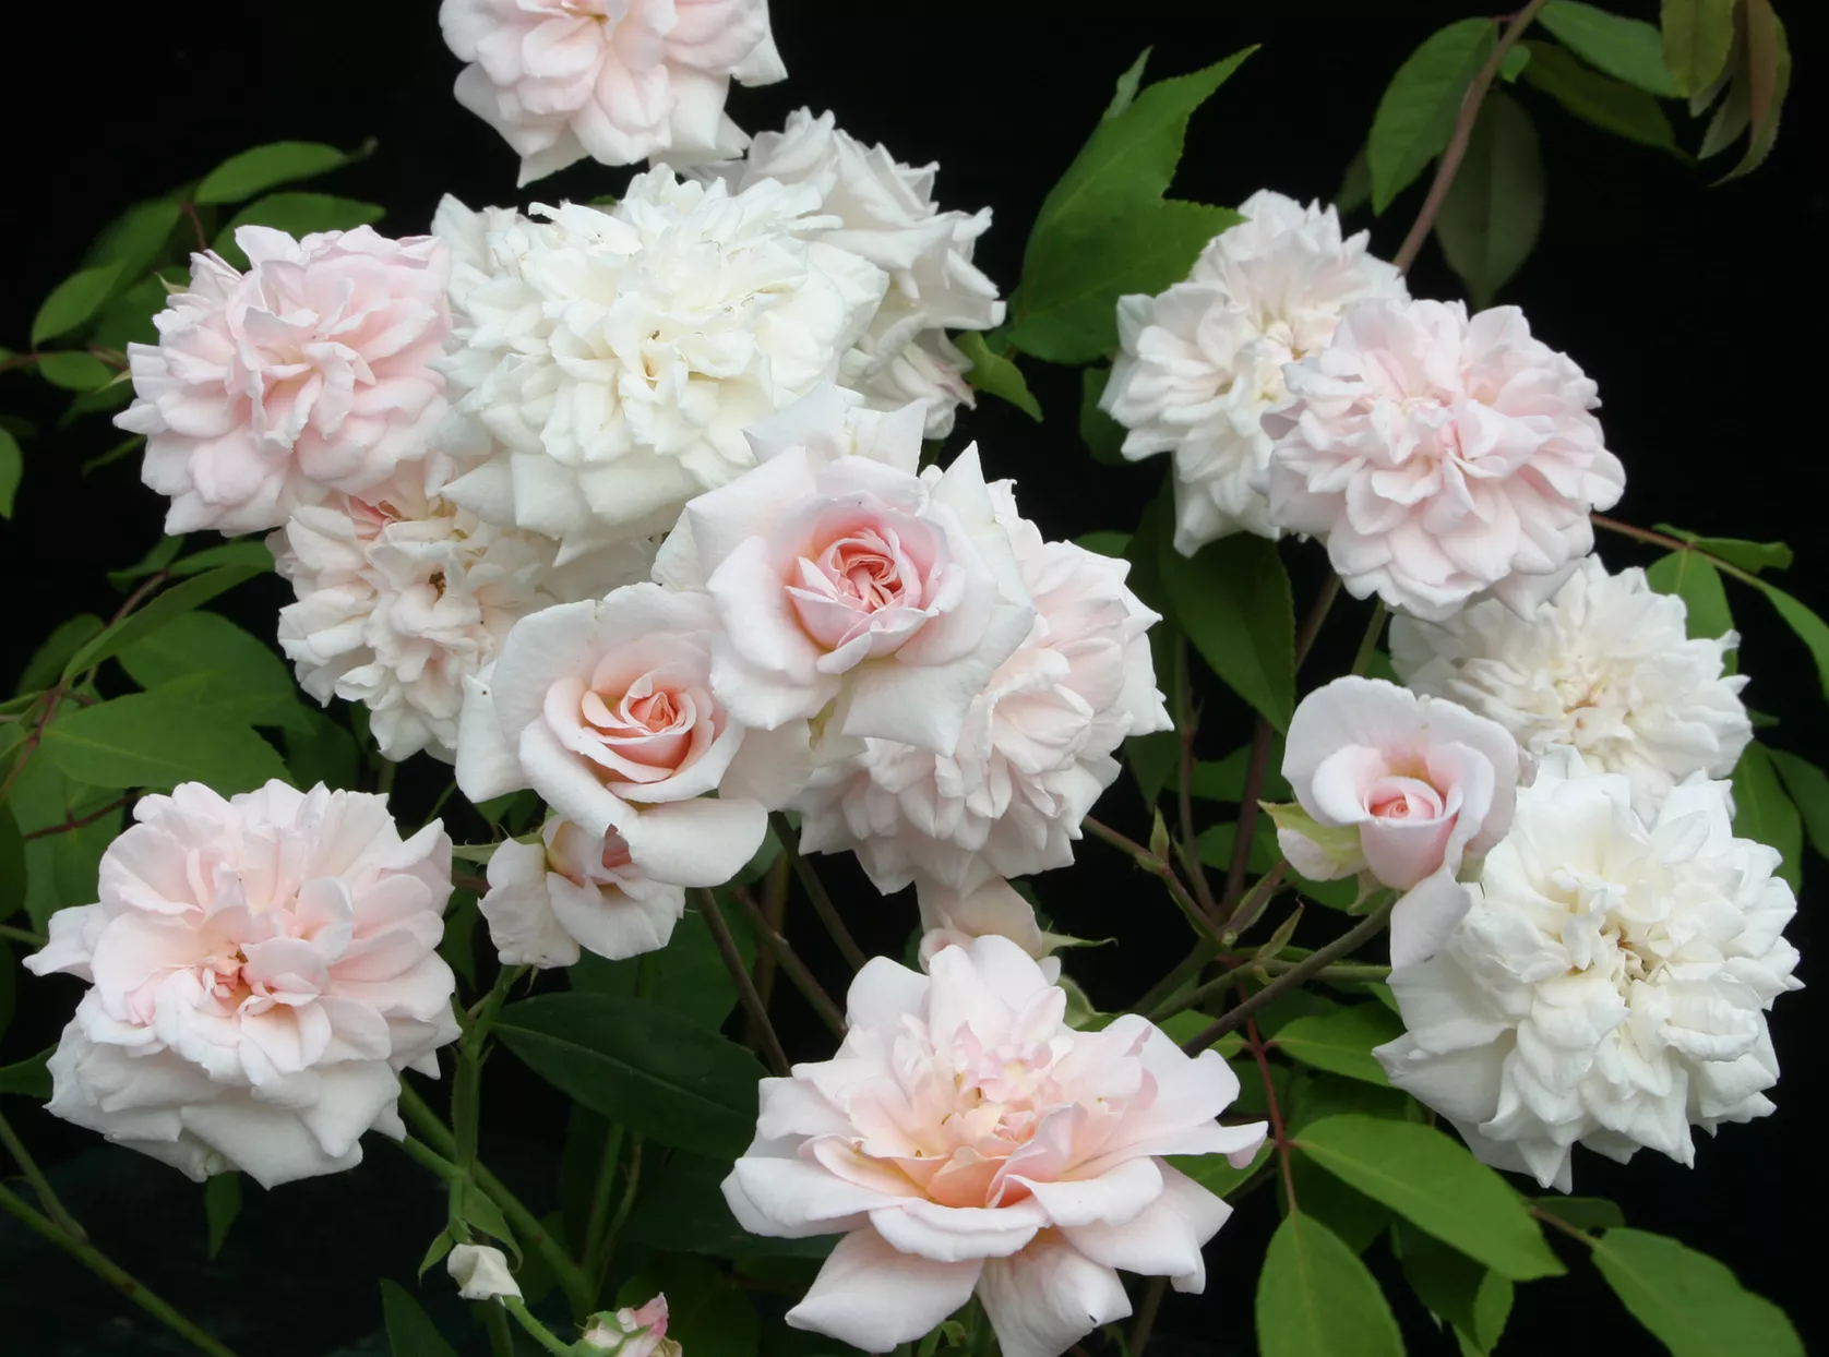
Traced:
<path id="1" fill-rule="evenodd" d="M 1650 0 L 1615 9 L 1653 18 Z M 1535 258 L 1500 298 L 1522 304 L 1533 329 L 1569 351 L 1600 384 L 1610 446 L 1624 459 L 1630 488 L 1615 510 L 1652 525 L 1787 540 L 1798 552 L 1789 587 L 1818 611 L 1829 604 L 1822 532 L 1818 331 L 1825 309 L 1824 219 L 1818 155 L 1824 130 L 1816 55 L 1824 51 L 1822 7 L 1780 0 L 1791 26 L 1798 75 L 1783 132 L 1769 165 L 1723 188 L 1706 183 L 1727 168 L 1681 165 L 1575 123 L 1524 90 L 1544 139 L 1549 210 Z M 898 159 L 938 159 L 946 207 L 991 205 L 997 227 L 979 262 L 1008 293 L 1021 271 L 1026 223 L 1097 119 L 1116 75 L 1154 44 L 1150 75 L 1174 75 L 1260 42 L 1264 49 L 1196 115 L 1174 192 L 1236 203 L 1269 185 L 1297 198 L 1332 198 L 1370 124 L 1377 97 L 1403 57 L 1436 26 L 1483 13 L 1476 0 L 1427 4 L 1289 4 L 1282 0 L 1063 5 L 1050 0 L 946 0 L 924 5 L 856 0 L 775 0 L 775 31 L 790 79 L 739 90 L 732 113 L 750 130 L 779 126 L 792 108 L 832 108 L 849 132 L 885 141 Z M 15 88 L 9 187 L 0 203 L 0 342 L 24 349 L 44 293 L 77 263 L 95 229 L 132 199 L 192 179 L 223 157 L 263 141 L 298 137 L 353 146 L 380 139 L 371 159 L 322 187 L 390 208 L 390 234 L 424 230 L 441 192 L 472 205 L 556 201 L 616 192 L 627 172 L 576 166 L 514 190 L 514 155 L 450 97 L 457 62 L 443 48 L 430 0 L 311 0 L 251 4 L 188 0 L 161 5 L 38 7 L 37 42 L 13 46 L 16 62 L 62 71 L 57 102 L 27 104 Z M 1699 128 L 1683 130 L 1694 146 Z M 1730 157 L 1728 157 L 1730 159 Z M 320 187 L 320 185 L 311 185 Z M 1374 249 L 1388 256 L 1416 212 L 1407 194 L 1381 221 L 1361 212 Z M 1458 296 L 1434 245 L 1412 274 L 1423 296 Z M 1074 430 L 1077 373 L 1026 364 L 1048 422 L 1035 426 L 995 401 L 960 421 L 982 443 L 991 475 L 1021 477 L 1024 508 L 1050 536 L 1128 527 L 1154 490 L 1161 463 L 1103 468 L 1088 461 Z M 0 379 L 0 410 L 40 422 L 57 411 L 42 386 Z M 60 618 L 117 604 L 102 571 L 126 565 L 157 538 L 163 501 L 137 483 L 134 463 L 80 475 L 84 457 L 106 448 L 110 430 L 90 421 L 70 435 L 27 446 L 15 521 L 0 529 L 0 578 L 9 593 L 0 680 L 24 664 Z M 1648 554 L 1604 540 L 1610 565 L 1646 563 Z M 1299 598 L 1311 593 L 1319 552 L 1297 552 Z M 245 589 L 229 611 L 271 635 L 282 585 L 269 596 Z M 1824 761 L 1822 691 L 1809 655 L 1745 593 L 1732 596 L 1745 635 L 1743 668 L 1754 675 L 1749 702 L 1783 715 L 1772 743 Z M 1317 664 L 1344 666 L 1361 609 L 1337 613 Z M 1324 669 L 1322 669 L 1324 671 Z M 1203 752 L 1242 743 L 1247 726 L 1220 693 L 1209 695 Z M 424 761 L 419 761 L 424 764 Z M 430 796 L 435 768 L 402 774 L 402 796 Z M 1141 807 L 1128 781 L 1101 814 L 1141 836 Z M 1074 971 L 1101 1008 L 1118 1008 L 1180 956 L 1185 933 L 1165 902 L 1112 854 L 1088 845 L 1083 867 L 1043 878 L 1039 891 L 1066 931 L 1118 933 L 1121 947 L 1079 953 Z M 1822 929 L 1811 911 L 1829 872 L 1807 863 L 1792 940 L 1802 975 L 1814 973 Z M 830 878 L 876 949 L 900 951 L 911 925 L 907 900 L 876 903 L 849 863 Z M 834 958 L 805 922 L 807 951 L 840 984 Z M 27 980 L 26 1008 L 0 1063 L 51 1041 L 60 1002 Z M 73 999 L 73 993 L 71 993 Z M 792 1002 L 792 1000 L 790 1000 Z M 1697 1167 L 1641 1156 L 1620 1169 L 1577 1158 L 1577 1189 L 1613 1196 L 1631 1223 L 1701 1247 L 1769 1295 L 1809 1341 L 1818 1267 L 1809 1236 L 1822 1207 L 1820 1125 L 1809 1116 L 1820 1066 L 1822 1002 L 1803 991 L 1780 1002 L 1774 1039 L 1787 1079 L 1780 1112 L 1750 1127 L 1699 1138 Z M 788 1044 L 818 1055 L 823 1035 L 796 1026 Z M 499 1074 L 497 1074 L 499 1070 Z M 507 1059 L 490 1101 L 492 1158 L 532 1158 L 529 1192 L 549 1200 L 538 1172 L 563 1130 L 563 1106 Z M 273 1357 L 318 1357 L 377 1324 L 377 1271 L 410 1280 L 422 1242 L 437 1229 L 437 1194 L 375 1147 L 369 1163 L 338 1180 L 294 1185 L 252 1198 L 223 1262 L 203 1264 L 199 1194 L 176 1174 L 18 1106 L 16 1121 L 73 1194 L 95 1202 L 86 1220 L 104 1244 L 155 1286 L 201 1313 L 221 1313 L 225 1337 Z M 9 1106 L 9 1116 L 15 1112 Z M 543 1149 L 545 1147 L 545 1149 Z M 80 1183 L 104 1181 L 84 1189 Z M 113 1203 L 113 1211 L 110 1211 Z M 79 1203 L 80 1205 L 80 1203 Z M 1249 1200 L 1209 1249 L 1207 1297 L 1172 1298 L 1160 1350 L 1247 1353 L 1257 1260 L 1275 1209 Z M 1809 1231 L 1809 1233 L 1807 1233 Z M 166 1350 L 123 1315 L 88 1275 L 29 1251 L 0 1231 L 0 1333 L 7 1352 L 93 1353 Z M 1659 1346 L 1622 1317 L 1586 1262 L 1569 1258 L 1569 1278 L 1531 1284 L 1520 1297 L 1502 1352 L 1653 1353 Z M 1379 1264 L 1390 1273 L 1386 1264 Z M 1394 1280 L 1394 1278 L 1390 1278 Z M 437 1293 L 428 1284 L 428 1293 Z M 1388 1288 L 1412 1352 L 1452 1352 L 1407 1298 Z M 27 1326 L 27 1317 L 35 1317 Z M 1820 1330 L 1816 1330 L 1820 1331 Z M 13 1335 L 27 1337 L 11 1346 Z"/>

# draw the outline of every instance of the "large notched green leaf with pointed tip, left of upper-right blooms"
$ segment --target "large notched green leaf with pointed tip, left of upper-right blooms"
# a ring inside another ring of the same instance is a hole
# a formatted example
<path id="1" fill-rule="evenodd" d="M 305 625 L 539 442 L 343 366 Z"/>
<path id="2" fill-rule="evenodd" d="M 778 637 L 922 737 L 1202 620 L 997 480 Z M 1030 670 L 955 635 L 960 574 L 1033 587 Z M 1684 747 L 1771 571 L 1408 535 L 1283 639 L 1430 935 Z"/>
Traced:
<path id="1" fill-rule="evenodd" d="M 1050 362 L 1090 362 L 1118 344 L 1118 298 L 1160 293 L 1187 276 L 1207 241 L 1240 218 L 1163 199 L 1187 121 L 1251 55 L 1158 80 L 1128 104 L 1123 90 L 1050 190 L 1010 300 L 1010 342 Z M 1128 77 L 1127 77 L 1128 79 Z"/>

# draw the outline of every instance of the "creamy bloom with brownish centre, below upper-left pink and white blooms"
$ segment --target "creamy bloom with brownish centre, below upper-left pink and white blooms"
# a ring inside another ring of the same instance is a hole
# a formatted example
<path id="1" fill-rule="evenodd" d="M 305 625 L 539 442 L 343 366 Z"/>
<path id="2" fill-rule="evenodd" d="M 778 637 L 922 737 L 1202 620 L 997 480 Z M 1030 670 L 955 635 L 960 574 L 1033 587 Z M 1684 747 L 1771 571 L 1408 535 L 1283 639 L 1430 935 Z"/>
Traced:
<path id="1" fill-rule="evenodd" d="M 607 593 L 647 572 L 651 549 L 620 543 L 554 574 L 554 543 L 483 523 L 443 496 L 450 459 L 408 463 L 362 494 L 293 510 L 267 540 L 296 604 L 280 609 L 280 647 L 318 702 L 369 710 L 390 759 L 457 750 L 463 680 L 481 673 L 519 618 L 589 576 Z"/>

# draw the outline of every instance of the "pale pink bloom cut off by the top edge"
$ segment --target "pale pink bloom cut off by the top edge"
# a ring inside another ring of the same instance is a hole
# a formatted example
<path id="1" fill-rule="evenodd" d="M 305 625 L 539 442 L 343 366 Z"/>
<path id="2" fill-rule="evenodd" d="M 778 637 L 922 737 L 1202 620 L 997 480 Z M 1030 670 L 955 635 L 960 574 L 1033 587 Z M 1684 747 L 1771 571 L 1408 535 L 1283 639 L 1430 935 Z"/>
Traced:
<path id="1" fill-rule="evenodd" d="M 523 185 L 585 155 L 737 155 L 730 80 L 786 79 L 768 0 L 444 0 L 439 27 L 470 62 L 457 102 L 514 146 Z"/>

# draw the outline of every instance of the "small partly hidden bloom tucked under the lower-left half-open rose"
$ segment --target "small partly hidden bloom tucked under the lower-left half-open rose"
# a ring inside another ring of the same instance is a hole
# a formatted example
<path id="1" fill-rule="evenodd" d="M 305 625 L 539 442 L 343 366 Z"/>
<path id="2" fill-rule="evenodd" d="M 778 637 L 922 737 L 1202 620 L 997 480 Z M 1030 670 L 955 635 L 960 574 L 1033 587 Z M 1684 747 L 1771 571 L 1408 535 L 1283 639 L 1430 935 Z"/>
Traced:
<path id="1" fill-rule="evenodd" d="M 668 946 L 686 891 L 647 880 L 620 834 L 549 819 L 540 838 L 508 839 L 488 860 L 479 907 L 503 966 L 571 966 L 580 947 L 616 962 Z"/>

